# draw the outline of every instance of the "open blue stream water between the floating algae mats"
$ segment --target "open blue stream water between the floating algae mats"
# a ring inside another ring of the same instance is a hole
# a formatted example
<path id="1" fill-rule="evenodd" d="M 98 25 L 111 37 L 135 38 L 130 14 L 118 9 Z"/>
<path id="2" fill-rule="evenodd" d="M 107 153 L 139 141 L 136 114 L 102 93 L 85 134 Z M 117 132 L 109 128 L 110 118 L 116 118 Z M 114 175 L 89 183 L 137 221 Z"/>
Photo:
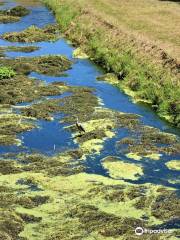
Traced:
<path id="1" fill-rule="evenodd" d="M 15 6 L 15 1 L 7 1 L 7 4 L 1 9 Z M 54 16 L 44 6 L 30 7 L 31 14 L 25 16 L 18 23 L 0 24 L 0 34 L 11 31 L 21 31 L 30 25 L 34 24 L 38 27 L 43 27 L 46 24 L 55 23 Z M 101 99 L 104 107 L 114 109 L 126 113 L 135 113 L 141 116 L 141 121 L 145 125 L 156 127 L 162 131 L 174 133 L 178 137 L 180 136 L 180 130 L 171 126 L 166 121 L 160 119 L 149 107 L 143 104 L 134 104 L 130 97 L 120 91 L 118 88 L 96 80 L 97 76 L 103 74 L 103 70 L 94 65 L 89 60 L 75 60 L 72 58 L 72 52 L 74 48 L 67 43 L 65 39 L 60 39 L 56 42 L 41 42 L 37 44 L 20 44 L 10 43 L 0 39 L 0 46 L 27 46 L 34 45 L 40 47 L 39 50 L 32 53 L 23 52 L 7 52 L 6 56 L 10 58 L 25 56 L 34 57 L 46 54 L 62 54 L 67 56 L 73 61 L 72 69 L 65 72 L 64 76 L 52 77 L 45 76 L 32 72 L 29 77 L 35 77 L 45 81 L 47 84 L 53 81 L 63 81 L 68 85 L 73 86 L 86 86 L 92 87 L 95 94 Z M 63 96 L 57 96 L 63 97 Z M 23 103 L 19 105 L 28 105 L 29 103 Z M 18 112 L 18 110 L 16 110 Z M 8 146 L 0 147 L 0 153 L 9 152 L 31 152 L 37 151 L 43 154 L 52 155 L 57 152 L 64 151 L 69 148 L 76 148 L 73 139 L 69 131 L 64 129 L 65 124 L 60 123 L 61 114 L 54 116 L 54 121 L 37 121 L 38 128 L 29 132 L 24 132 L 19 135 L 22 139 L 22 146 Z M 103 174 L 108 176 L 108 173 L 102 168 L 101 159 L 108 155 L 116 155 L 120 159 L 127 162 L 133 162 L 136 164 L 142 164 L 144 167 L 144 176 L 140 178 L 137 183 L 151 182 L 155 184 L 163 184 L 166 186 L 173 186 L 179 189 L 179 184 L 171 184 L 168 180 L 177 180 L 179 177 L 178 171 L 169 170 L 165 163 L 172 159 L 180 159 L 180 154 L 175 156 L 163 155 L 161 160 L 153 161 L 150 159 L 144 159 L 141 162 L 134 161 L 125 157 L 122 151 L 117 151 L 115 145 L 116 141 L 128 136 L 126 129 L 119 129 L 116 132 L 116 136 L 105 142 L 105 146 L 100 156 L 89 156 L 86 161 L 87 171 L 90 173 Z M 54 146 L 56 146 L 54 150 Z"/>

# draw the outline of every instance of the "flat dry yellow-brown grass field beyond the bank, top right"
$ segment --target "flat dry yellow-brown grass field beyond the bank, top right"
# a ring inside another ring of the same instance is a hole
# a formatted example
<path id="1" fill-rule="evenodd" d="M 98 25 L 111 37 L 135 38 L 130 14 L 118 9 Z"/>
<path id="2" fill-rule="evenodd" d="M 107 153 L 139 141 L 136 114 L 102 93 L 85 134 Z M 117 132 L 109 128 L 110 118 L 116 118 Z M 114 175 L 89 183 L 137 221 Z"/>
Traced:
<path id="1" fill-rule="evenodd" d="M 180 4 L 159 0 L 77 0 L 95 15 L 180 60 Z"/>

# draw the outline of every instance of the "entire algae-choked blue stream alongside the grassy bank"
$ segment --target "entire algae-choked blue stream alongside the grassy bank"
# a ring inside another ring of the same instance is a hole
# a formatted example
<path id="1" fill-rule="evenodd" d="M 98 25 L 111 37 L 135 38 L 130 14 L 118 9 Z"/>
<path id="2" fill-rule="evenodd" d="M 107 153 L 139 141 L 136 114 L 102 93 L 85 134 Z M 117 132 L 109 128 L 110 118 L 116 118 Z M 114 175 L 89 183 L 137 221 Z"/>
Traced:
<path id="1" fill-rule="evenodd" d="M 62 21 L 77 6 L 58 5 Z M 0 23 L 0 240 L 178 239 L 178 128 L 120 92 L 124 73 L 104 74 L 75 49 L 42 2 L 6 0 L 0 16 L 10 14 Z"/>

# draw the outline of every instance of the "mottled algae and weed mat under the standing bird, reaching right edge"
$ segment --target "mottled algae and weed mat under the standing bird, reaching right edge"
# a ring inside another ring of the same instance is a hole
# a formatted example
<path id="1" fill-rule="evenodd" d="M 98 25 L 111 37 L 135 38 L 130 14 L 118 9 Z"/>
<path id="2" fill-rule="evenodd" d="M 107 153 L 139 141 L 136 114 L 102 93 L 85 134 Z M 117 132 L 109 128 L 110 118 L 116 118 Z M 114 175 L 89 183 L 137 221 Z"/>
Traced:
<path id="1" fill-rule="evenodd" d="M 128 129 L 129 136 L 116 143 L 117 151 L 128 158 L 159 160 L 162 154 L 173 155 L 179 152 L 180 145 L 174 135 L 142 125 L 139 116 L 135 114 L 124 114 L 100 107 L 98 98 L 90 88 L 53 83 L 47 88 L 39 87 L 39 90 L 47 96 L 64 92 L 69 92 L 71 95 L 61 99 L 39 101 L 21 108 L 21 113 L 27 117 L 48 121 L 53 120 L 54 113 L 65 114 L 61 122 L 71 124 L 65 129 L 72 133 L 74 142 L 78 143 L 83 153 L 82 159 L 86 159 L 88 155 L 99 154 L 106 139 L 112 138 L 117 128 Z M 40 93 L 37 88 L 36 94 Z M 75 125 L 77 117 L 85 129 L 83 134 Z"/>

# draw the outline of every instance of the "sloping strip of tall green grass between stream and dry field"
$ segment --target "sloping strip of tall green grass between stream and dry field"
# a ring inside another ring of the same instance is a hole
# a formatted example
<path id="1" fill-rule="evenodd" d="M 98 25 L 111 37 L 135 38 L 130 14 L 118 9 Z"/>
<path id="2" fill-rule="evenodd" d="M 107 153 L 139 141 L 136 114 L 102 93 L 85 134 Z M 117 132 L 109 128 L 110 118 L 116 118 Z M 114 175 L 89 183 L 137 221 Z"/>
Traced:
<path id="1" fill-rule="evenodd" d="M 88 6 L 84 0 L 44 2 L 55 12 L 65 36 L 81 46 L 108 73 L 116 74 L 119 79 L 114 83 L 116 86 L 136 101 L 150 104 L 160 116 L 180 126 L 179 65 L 176 60 L 157 46 L 138 40 L 132 32 L 119 29 L 116 24 L 118 22 L 121 26 L 122 22 L 117 19 L 118 9 L 115 17 L 110 1 L 106 1 L 108 13 L 99 1 L 91 1 Z M 143 2 L 145 6 L 150 4 Z M 163 6 L 163 3 L 159 4 Z M 120 3 L 116 1 L 116 5 Z"/>

